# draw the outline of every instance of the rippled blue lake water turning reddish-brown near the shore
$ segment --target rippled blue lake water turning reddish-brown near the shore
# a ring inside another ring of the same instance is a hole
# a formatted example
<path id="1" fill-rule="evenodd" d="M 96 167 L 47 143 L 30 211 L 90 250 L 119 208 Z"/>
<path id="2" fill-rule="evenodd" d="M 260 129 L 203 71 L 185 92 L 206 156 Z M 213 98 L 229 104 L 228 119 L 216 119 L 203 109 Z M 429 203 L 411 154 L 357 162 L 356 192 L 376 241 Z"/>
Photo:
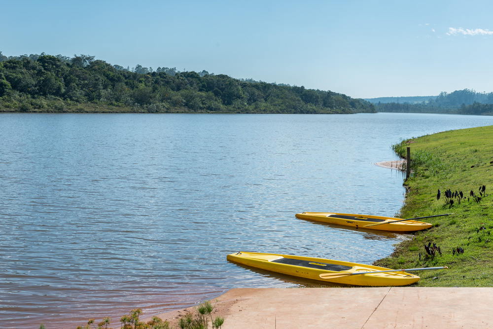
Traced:
<path id="1" fill-rule="evenodd" d="M 237 251 L 371 263 L 401 234 L 296 219 L 395 215 L 390 146 L 493 117 L 439 114 L 0 114 L 2 328 L 75 328 L 230 288 L 310 282 Z"/>

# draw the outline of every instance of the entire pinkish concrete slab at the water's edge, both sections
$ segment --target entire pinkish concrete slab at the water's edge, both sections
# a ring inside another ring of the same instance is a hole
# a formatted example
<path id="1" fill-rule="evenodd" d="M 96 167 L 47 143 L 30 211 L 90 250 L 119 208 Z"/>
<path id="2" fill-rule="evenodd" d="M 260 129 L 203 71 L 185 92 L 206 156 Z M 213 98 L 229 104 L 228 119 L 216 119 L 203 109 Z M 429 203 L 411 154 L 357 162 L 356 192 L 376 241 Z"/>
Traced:
<path id="1" fill-rule="evenodd" d="M 223 329 L 493 328 L 493 288 L 231 289 L 212 303 Z"/>

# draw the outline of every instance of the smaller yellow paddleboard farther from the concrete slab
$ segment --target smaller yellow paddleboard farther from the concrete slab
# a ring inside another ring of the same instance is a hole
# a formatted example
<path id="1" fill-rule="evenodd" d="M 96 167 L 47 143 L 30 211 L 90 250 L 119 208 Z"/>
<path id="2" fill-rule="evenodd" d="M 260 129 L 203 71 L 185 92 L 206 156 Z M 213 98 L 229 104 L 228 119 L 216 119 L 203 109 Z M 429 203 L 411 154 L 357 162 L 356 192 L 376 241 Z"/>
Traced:
<path id="1" fill-rule="evenodd" d="M 339 224 L 352 227 L 371 228 L 375 230 L 394 232 L 413 232 L 433 226 L 430 223 L 413 219 L 401 219 L 384 216 L 338 214 L 338 213 L 300 213 L 297 218 L 323 221 L 325 223 Z M 396 222 L 392 222 L 396 221 Z M 390 223 L 389 223 L 390 222 Z M 378 224 L 378 225 L 375 225 Z"/>

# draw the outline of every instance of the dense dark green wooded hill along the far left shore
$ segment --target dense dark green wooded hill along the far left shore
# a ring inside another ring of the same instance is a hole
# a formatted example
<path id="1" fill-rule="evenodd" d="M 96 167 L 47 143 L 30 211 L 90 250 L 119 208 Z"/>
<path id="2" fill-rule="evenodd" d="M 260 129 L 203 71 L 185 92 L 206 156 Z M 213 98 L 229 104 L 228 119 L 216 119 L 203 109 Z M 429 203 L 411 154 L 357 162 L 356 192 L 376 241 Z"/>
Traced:
<path id="1" fill-rule="evenodd" d="M 206 71 L 123 68 L 94 56 L 0 52 L 0 111 L 355 113 L 376 112 L 349 96 L 234 79 Z"/>

